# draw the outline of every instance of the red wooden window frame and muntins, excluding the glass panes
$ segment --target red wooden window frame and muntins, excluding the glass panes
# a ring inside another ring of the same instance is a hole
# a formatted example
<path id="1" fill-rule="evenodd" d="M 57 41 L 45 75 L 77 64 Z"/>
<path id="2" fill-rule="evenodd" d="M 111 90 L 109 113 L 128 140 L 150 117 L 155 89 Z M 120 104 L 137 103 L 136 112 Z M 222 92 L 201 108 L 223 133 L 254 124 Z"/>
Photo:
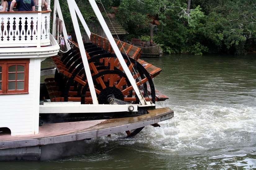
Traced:
<path id="1" fill-rule="evenodd" d="M 28 94 L 29 93 L 29 59 L 4 59 L 0 60 L 2 66 L 2 90 L 0 95 Z M 15 71 L 9 72 L 9 67 L 16 66 Z M 24 71 L 17 71 L 17 66 L 24 66 Z M 18 80 L 18 73 L 24 73 L 24 79 Z M 14 80 L 9 80 L 9 74 L 15 74 Z M 15 89 L 9 90 L 8 83 L 15 82 Z M 24 82 L 24 89 L 17 89 L 17 82 Z"/>

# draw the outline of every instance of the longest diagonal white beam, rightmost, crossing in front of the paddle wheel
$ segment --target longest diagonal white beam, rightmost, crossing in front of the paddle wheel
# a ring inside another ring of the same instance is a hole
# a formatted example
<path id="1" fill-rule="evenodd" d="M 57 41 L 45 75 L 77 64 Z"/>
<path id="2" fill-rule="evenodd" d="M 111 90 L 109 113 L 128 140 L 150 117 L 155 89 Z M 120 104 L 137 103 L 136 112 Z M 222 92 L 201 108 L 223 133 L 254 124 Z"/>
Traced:
<path id="1" fill-rule="evenodd" d="M 114 50 L 114 52 L 116 54 L 116 57 L 118 58 L 122 68 L 124 69 L 124 72 L 127 75 L 127 78 L 129 79 L 129 82 L 131 83 L 131 85 L 132 85 L 136 95 L 138 96 L 141 104 L 142 105 L 146 105 L 147 104 L 146 100 L 142 96 L 142 94 L 141 94 L 141 92 L 140 92 L 140 90 L 139 90 L 139 88 L 138 88 L 138 86 L 137 86 L 137 84 L 136 84 L 136 82 L 135 82 L 135 80 L 134 80 L 134 78 L 132 76 L 131 71 L 129 70 L 128 66 L 126 65 L 126 62 L 124 61 L 124 58 L 123 58 L 121 52 L 119 51 L 119 48 L 116 45 L 116 42 L 115 42 L 115 40 L 114 40 L 114 38 L 113 38 L 113 36 L 112 36 L 112 34 L 111 34 L 107 24 L 106 24 L 103 16 L 101 15 L 101 11 L 99 10 L 99 7 L 97 6 L 95 0 L 89 0 L 89 2 L 91 4 L 91 6 L 92 6 L 92 9 L 93 9 L 95 15 L 97 16 L 97 18 L 98 18 L 98 20 L 99 20 L 99 22 L 101 24 L 102 29 L 104 30 L 104 32 L 105 32 L 105 34 L 106 34 L 106 36 L 107 36 L 107 38 L 108 38 L 108 40 L 110 42 L 110 45 L 112 46 L 112 48 L 113 48 L 113 50 Z"/>

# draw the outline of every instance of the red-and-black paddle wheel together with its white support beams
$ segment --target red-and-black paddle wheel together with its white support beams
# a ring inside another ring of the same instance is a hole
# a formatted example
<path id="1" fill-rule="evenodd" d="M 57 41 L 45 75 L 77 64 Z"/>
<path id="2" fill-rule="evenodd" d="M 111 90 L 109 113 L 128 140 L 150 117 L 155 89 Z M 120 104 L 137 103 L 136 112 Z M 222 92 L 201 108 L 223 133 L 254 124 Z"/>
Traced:
<path id="1" fill-rule="evenodd" d="M 155 90 L 153 83 L 153 78 L 162 70 L 139 59 L 140 48 L 113 38 L 94 0 L 89 2 L 106 38 L 90 32 L 76 2 L 67 2 L 77 41 L 68 40 L 61 7 L 56 1 L 53 36 L 59 35 L 56 28 L 60 26 L 55 22 L 57 13 L 58 20 L 63 22 L 61 28 L 68 50 L 52 57 L 56 71 L 53 78 L 45 79 L 46 90 L 40 94 L 40 100 L 43 100 L 40 122 L 135 117 L 155 109 L 156 101 L 168 99 Z M 90 42 L 83 42 L 77 17 Z M 132 137 L 143 127 L 135 128 L 132 132 L 125 131 L 128 137 Z"/>

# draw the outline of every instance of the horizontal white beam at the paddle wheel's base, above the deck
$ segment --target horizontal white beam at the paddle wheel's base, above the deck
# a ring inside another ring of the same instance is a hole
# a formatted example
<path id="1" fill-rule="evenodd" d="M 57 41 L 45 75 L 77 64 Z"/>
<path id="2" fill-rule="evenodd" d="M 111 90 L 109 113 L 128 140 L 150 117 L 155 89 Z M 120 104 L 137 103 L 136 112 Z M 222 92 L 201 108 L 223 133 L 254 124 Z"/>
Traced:
<path id="1" fill-rule="evenodd" d="M 129 111 L 129 107 L 133 107 Z M 117 113 L 137 112 L 137 104 L 81 104 L 81 102 L 49 102 L 39 105 L 39 113 Z"/>

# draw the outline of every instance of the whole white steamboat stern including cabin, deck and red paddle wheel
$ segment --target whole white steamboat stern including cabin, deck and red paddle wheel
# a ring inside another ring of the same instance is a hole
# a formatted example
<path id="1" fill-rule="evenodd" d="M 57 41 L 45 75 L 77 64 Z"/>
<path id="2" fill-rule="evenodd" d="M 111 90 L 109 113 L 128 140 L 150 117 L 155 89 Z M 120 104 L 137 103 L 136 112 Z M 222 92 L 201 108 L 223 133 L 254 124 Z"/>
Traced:
<path id="1" fill-rule="evenodd" d="M 74 0 L 67 3 L 76 42 L 68 40 L 58 0 L 52 34 L 50 0 L 44 11 L 39 2 L 38 11 L 0 14 L 0 160 L 47 160 L 55 145 L 124 131 L 131 138 L 173 117 L 170 108 L 155 108 L 168 99 L 152 81 L 161 69 L 139 59 L 140 48 L 114 39 L 96 2 L 89 2 L 106 37 L 90 32 Z M 78 19 L 90 42 L 83 42 Z M 47 57 L 55 68 L 41 69 Z"/>

